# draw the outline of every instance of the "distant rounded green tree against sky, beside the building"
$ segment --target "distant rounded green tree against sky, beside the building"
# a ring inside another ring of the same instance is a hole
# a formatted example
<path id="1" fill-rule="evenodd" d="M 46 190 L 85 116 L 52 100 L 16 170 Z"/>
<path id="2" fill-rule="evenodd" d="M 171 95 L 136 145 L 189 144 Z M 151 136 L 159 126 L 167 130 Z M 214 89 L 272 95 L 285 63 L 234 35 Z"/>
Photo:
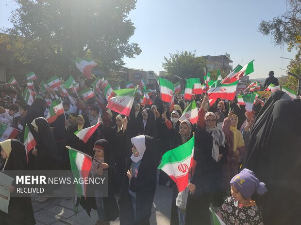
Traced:
<path id="1" fill-rule="evenodd" d="M 204 76 L 204 67 L 206 67 L 206 60 L 203 57 L 197 57 L 196 51 L 181 51 L 176 54 L 169 54 L 169 59 L 164 57 L 165 62 L 162 63 L 166 71 L 166 77 L 176 82 L 179 80 L 175 75 L 183 79 L 200 77 L 201 82 Z"/>

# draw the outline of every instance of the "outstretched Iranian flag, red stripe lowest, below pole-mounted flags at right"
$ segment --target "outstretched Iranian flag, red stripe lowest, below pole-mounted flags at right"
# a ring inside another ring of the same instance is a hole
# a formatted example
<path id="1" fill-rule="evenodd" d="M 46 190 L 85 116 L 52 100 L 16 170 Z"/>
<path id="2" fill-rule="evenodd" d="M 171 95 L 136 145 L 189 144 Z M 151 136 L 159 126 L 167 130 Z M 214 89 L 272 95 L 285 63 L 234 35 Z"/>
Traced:
<path id="1" fill-rule="evenodd" d="M 217 88 L 211 86 L 208 90 L 208 95 L 211 99 L 223 98 L 228 100 L 234 100 L 236 86 L 238 81 L 235 81 L 231 84 L 220 84 Z"/>

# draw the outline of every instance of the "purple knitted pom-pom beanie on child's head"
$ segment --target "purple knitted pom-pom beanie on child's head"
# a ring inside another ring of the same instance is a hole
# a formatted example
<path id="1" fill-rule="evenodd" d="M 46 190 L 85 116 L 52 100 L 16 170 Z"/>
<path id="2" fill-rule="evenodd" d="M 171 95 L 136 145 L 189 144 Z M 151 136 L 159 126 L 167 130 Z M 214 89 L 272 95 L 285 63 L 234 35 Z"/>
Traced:
<path id="1" fill-rule="evenodd" d="M 266 184 L 260 182 L 249 169 L 243 169 L 230 181 L 245 199 L 250 199 L 256 191 L 259 195 L 265 194 L 268 189 Z"/>

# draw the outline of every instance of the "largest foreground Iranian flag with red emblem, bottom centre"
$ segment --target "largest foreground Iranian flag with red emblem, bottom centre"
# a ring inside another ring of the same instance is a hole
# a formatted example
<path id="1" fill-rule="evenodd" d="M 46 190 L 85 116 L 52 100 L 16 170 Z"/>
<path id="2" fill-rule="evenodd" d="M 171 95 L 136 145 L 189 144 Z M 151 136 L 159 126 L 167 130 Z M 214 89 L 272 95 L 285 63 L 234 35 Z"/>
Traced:
<path id="1" fill-rule="evenodd" d="M 183 145 L 167 151 L 158 167 L 176 183 L 179 192 L 184 191 L 188 185 L 188 171 L 193 164 L 193 153 L 194 136 Z"/>

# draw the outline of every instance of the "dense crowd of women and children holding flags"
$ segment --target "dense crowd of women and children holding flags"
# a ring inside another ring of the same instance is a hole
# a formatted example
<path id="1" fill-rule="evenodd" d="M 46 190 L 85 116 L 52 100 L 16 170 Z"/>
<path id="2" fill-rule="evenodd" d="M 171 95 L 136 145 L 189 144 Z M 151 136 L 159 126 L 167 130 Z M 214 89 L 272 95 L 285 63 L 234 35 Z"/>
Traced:
<path id="1" fill-rule="evenodd" d="M 227 225 L 300 224 L 301 99 L 277 90 L 263 106 L 256 101 L 250 115 L 236 100 L 218 99 L 211 105 L 206 95 L 189 101 L 176 95 L 170 108 L 154 91 L 152 105 L 140 105 L 137 94 L 125 116 L 106 108 L 101 91 L 88 101 L 75 94 L 39 95 L 44 98 L 26 105 L 17 89 L 0 90 L 0 122 L 19 130 L 16 139 L 0 142 L 1 171 L 70 170 L 67 145 L 90 155 L 95 159 L 90 176 L 107 170 L 109 180 L 108 197 L 96 188 L 96 197 L 80 201 L 88 214 L 97 210 L 96 225 L 117 217 L 120 225 L 150 224 L 157 184 L 173 193 L 171 225 L 210 225 L 210 207 Z M 47 102 L 55 96 L 62 98 L 65 114 L 49 124 Z M 179 120 L 191 101 L 198 107 L 195 124 Z M 98 120 L 100 126 L 86 143 L 74 135 Z M 37 142 L 28 163 L 22 144 L 25 125 Z M 157 167 L 165 152 L 193 135 L 194 165 L 187 188 L 179 193 Z M 46 194 L 35 200 L 44 202 L 53 193 L 46 188 Z M 30 196 L 12 198 L 8 210 L 0 211 L 0 224 L 35 224 Z"/>

